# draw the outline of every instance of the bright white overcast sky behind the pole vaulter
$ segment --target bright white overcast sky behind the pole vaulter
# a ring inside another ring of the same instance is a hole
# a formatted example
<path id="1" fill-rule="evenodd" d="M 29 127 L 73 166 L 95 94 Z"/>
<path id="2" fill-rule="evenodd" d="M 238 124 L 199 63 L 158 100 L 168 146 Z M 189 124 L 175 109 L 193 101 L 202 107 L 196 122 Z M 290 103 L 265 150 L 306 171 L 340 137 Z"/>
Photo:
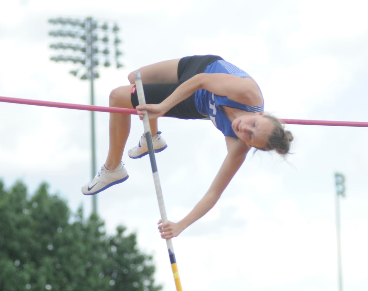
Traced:
<path id="1" fill-rule="evenodd" d="M 100 69 L 95 104 L 146 64 L 216 54 L 261 87 L 265 110 L 279 118 L 367 120 L 368 18 L 362 1 L 7 1 L 0 8 L 0 96 L 89 104 L 89 83 L 50 61 L 58 42 L 53 17 L 116 21 L 124 68 Z M 98 168 L 108 149 L 108 113 L 96 113 Z M 90 113 L 0 103 L 0 177 L 22 179 L 33 193 L 43 181 L 75 211 L 91 213 L 81 186 L 91 179 Z M 226 155 L 211 122 L 162 118 L 168 147 L 156 154 L 169 220 L 201 199 Z M 183 290 L 335 291 L 335 172 L 346 176 L 340 200 L 344 290 L 368 290 L 368 129 L 287 125 L 295 136 L 284 161 L 256 152 L 216 206 L 173 239 Z M 127 149 L 143 124 L 132 116 Z M 154 255 L 156 282 L 175 290 L 149 158 L 123 161 L 130 178 L 98 194 L 110 234 L 136 232 Z M 97 171 L 98 168 L 95 170 Z M 95 171 L 95 172 L 96 172 Z"/>

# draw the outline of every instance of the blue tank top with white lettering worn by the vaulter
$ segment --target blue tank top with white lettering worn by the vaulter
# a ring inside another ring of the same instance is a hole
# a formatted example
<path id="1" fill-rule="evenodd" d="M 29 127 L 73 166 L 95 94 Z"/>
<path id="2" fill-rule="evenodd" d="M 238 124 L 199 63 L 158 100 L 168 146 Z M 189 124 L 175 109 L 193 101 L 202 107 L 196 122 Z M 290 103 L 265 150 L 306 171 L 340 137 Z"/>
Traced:
<path id="1" fill-rule="evenodd" d="M 213 62 L 212 64 L 207 66 L 206 70 L 203 73 L 225 73 L 240 78 L 251 78 L 248 73 L 224 60 L 217 60 L 216 62 Z M 238 137 L 231 127 L 230 120 L 227 118 L 227 116 L 219 106 L 228 106 L 248 112 L 263 112 L 264 108 L 264 103 L 262 104 L 262 106 L 245 105 L 233 101 L 226 96 L 213 94 L 205 89 L 200 89 L 196 91 L 194 100 L 197 110 L 203 115 L 210 118 L 213 124 L 224 134 L 224 136 L 232 136 L 236 138 Z"/>

